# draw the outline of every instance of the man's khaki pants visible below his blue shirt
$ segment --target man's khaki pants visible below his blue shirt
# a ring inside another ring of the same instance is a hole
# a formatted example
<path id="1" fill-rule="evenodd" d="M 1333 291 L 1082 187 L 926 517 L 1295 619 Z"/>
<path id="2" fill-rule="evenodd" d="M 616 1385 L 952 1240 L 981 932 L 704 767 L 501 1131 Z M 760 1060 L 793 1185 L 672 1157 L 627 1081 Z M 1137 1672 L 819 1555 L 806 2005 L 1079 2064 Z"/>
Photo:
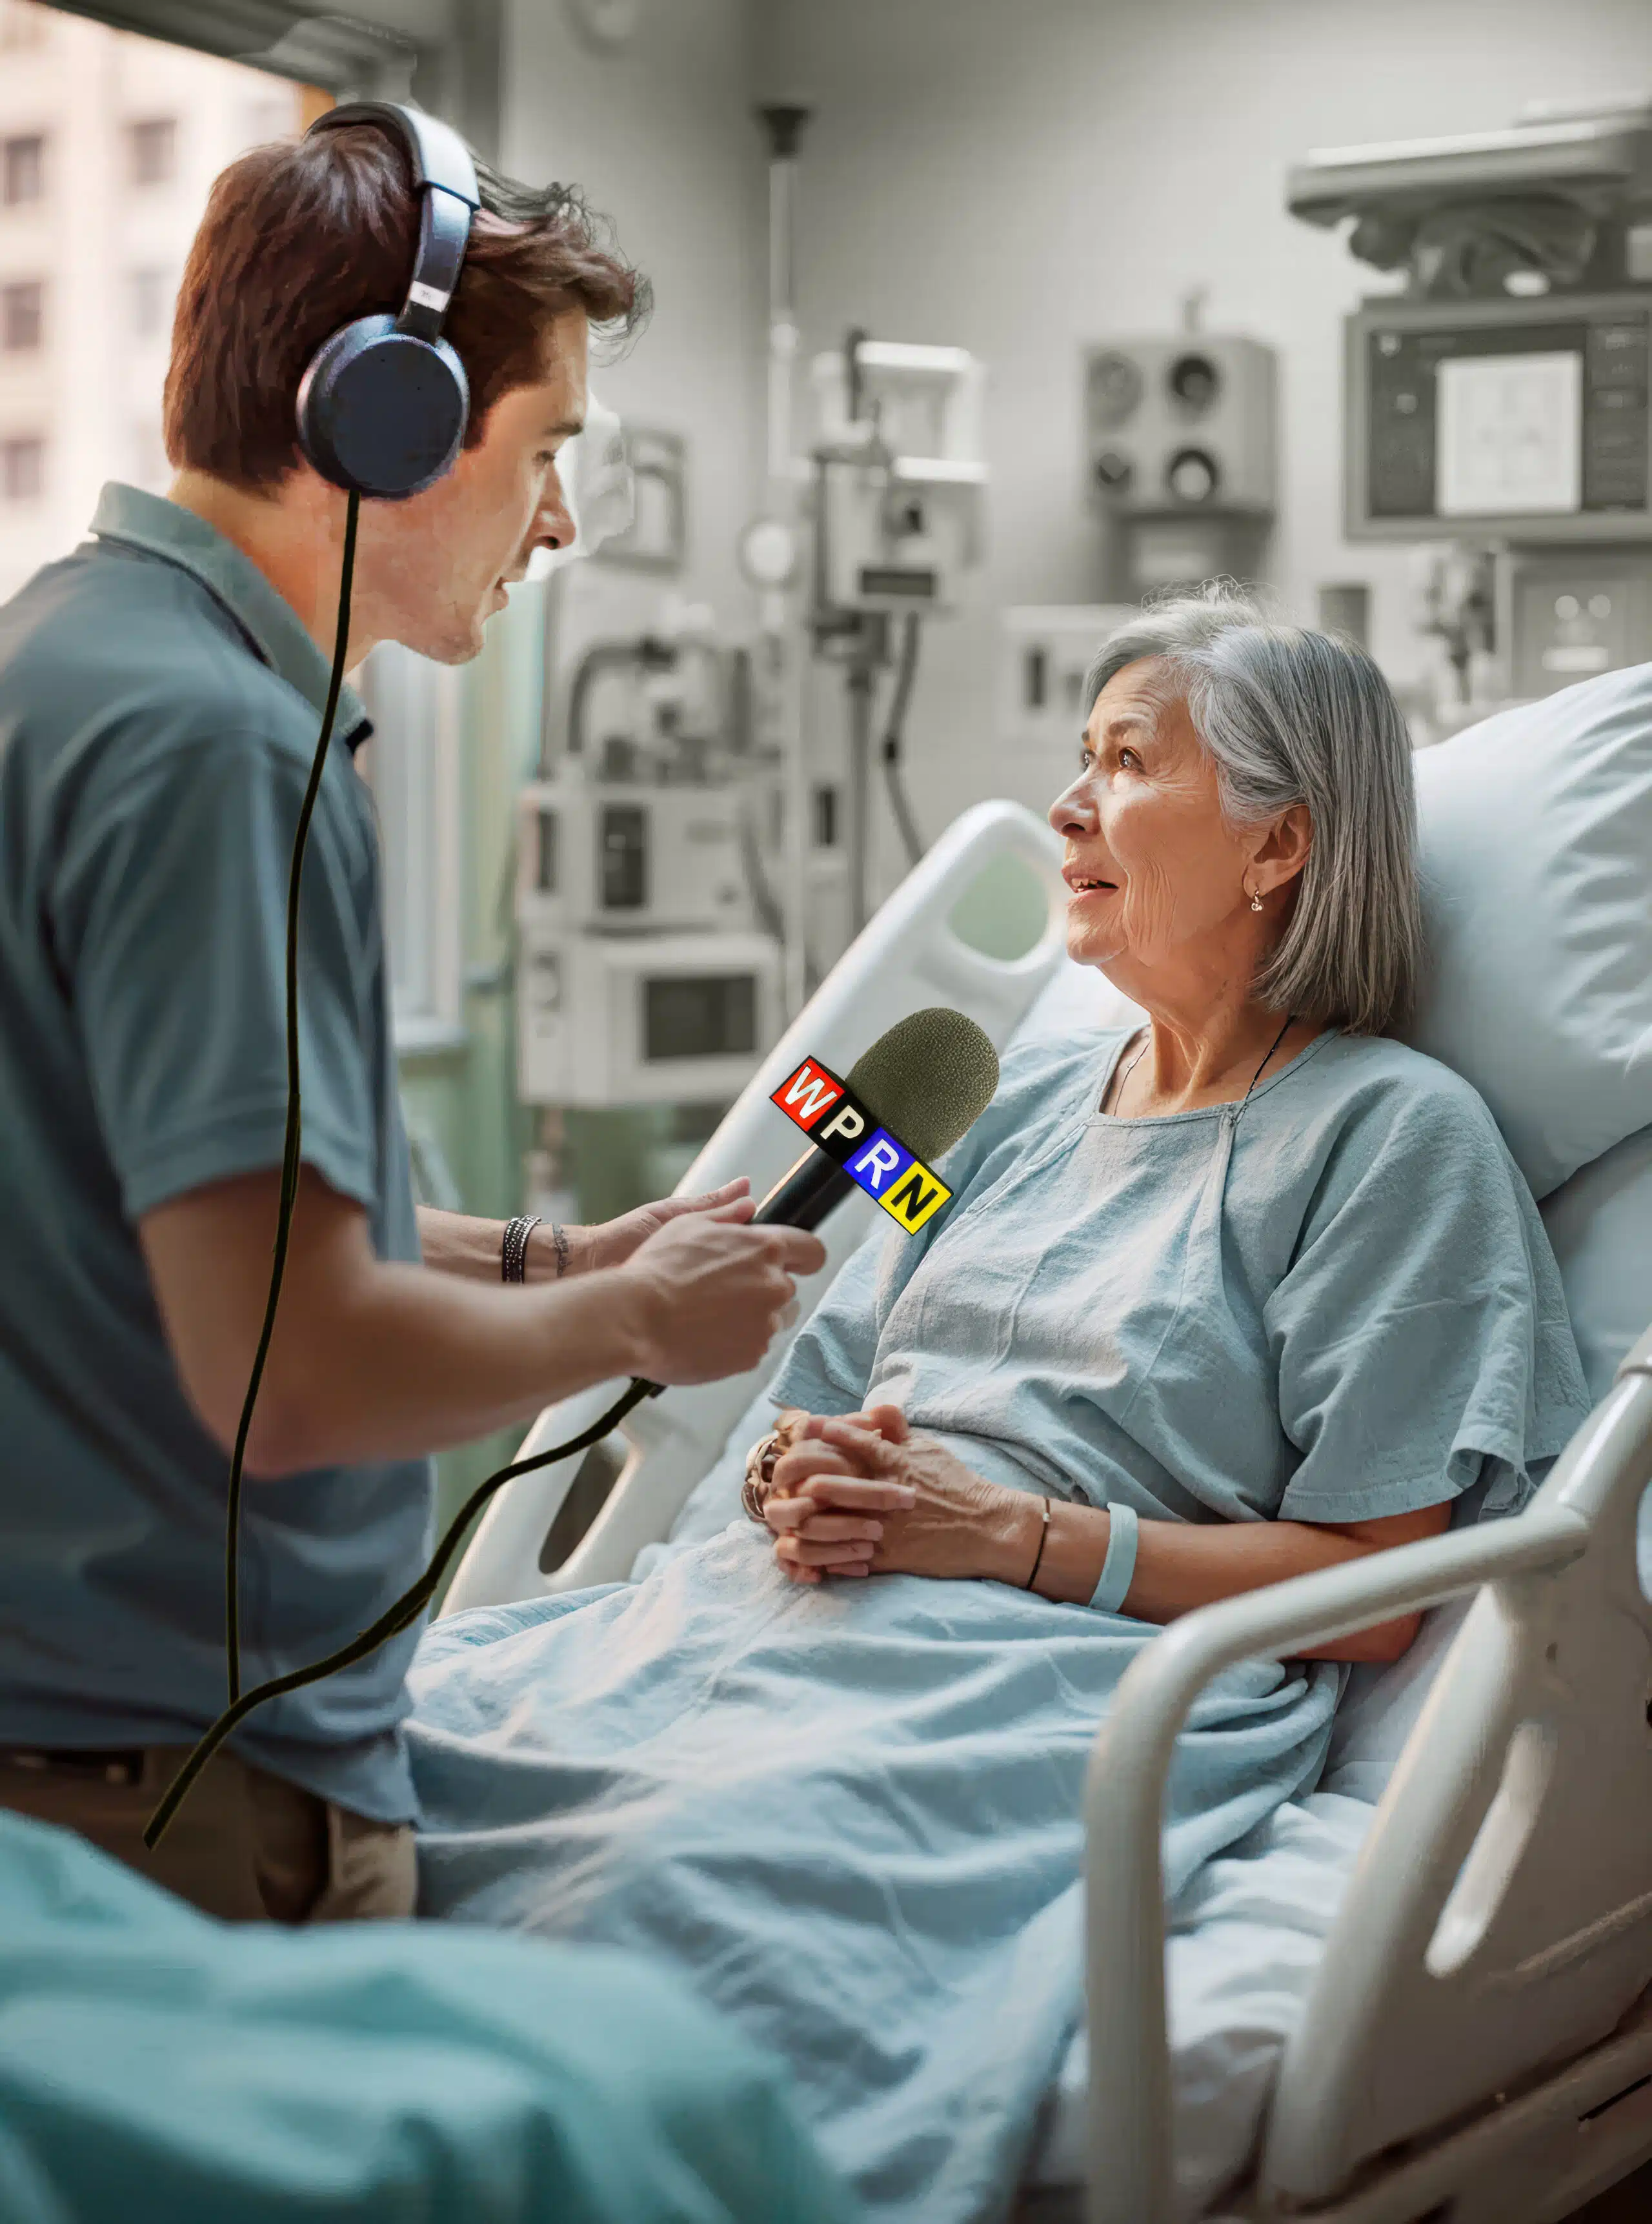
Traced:
<path id="1" fill-rule="evenodd" d="M 218 1750 L 167 1835 L 142 1841 L 189 1746 L 31 1753 L 0 1746 L 0 1806 L 78 1830 L 222 1922 L 342 1924 L 411 1915 L 414 1830 L 369 1821 Z"/>

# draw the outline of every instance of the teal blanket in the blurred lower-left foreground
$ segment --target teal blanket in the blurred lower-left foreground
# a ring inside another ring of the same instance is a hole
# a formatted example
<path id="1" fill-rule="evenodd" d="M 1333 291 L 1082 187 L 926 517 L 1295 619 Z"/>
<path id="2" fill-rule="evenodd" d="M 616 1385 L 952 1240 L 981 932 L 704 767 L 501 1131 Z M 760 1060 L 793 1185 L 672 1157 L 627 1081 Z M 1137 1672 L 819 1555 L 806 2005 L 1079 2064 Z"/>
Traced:
<path id="1" fill-rule="evenodd" d="M 0 1810 L 0 2224 L 849 2224 L 783 2064 L 625 1955 L 216 1924 Z"/>

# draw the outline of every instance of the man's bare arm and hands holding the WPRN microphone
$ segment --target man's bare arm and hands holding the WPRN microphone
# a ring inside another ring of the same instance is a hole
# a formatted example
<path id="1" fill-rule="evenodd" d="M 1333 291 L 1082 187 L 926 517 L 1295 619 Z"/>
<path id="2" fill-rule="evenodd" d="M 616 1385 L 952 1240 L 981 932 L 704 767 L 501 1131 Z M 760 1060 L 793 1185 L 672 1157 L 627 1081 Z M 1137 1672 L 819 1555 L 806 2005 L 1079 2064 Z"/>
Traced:
<path id="1" fill-rule="evenodd" d="M 276 1194 L 273 1174 L 249 1174 L 140 1223 L 178 1372 L 225 1448 L 265 1314 Z M 523 1288 L 498 1281 L 496 1230 L 480 1272 L 458 1241 L 449 1257 L 429 1245 L 425 1265 L 380 1259 L 362 1208 L 305 1168 L 249 1475 L 440 1450 L 627 1374 L 663 1386 L 743 1374 L 783 1326 L 796 1279 L 825 1265 L 818 1237 L 756 1228 L 752 1214 L 745 1181 L 643 1205 L 574 1232 L 583 1270 Z"/>

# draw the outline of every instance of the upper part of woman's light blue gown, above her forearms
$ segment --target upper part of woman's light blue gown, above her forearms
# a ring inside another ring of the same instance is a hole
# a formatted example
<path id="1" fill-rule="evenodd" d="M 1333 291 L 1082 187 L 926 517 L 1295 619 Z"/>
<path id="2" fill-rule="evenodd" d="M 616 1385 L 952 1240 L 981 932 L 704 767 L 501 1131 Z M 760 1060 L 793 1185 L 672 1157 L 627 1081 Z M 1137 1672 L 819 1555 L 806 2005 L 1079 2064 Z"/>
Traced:
<path id="1" fill-rule="evenodd" d="M 1588 1392 L 1474 1090 L 1330 1032 L 1243 1112 L 1107 1119 L 1123 1045 L 1005 1059 L 945 1161 L 954 1203 L 863 1245 L 776 1403 L 900 1406 L 992 1481 L 1143 1519 L 1523 1506 Z"/>

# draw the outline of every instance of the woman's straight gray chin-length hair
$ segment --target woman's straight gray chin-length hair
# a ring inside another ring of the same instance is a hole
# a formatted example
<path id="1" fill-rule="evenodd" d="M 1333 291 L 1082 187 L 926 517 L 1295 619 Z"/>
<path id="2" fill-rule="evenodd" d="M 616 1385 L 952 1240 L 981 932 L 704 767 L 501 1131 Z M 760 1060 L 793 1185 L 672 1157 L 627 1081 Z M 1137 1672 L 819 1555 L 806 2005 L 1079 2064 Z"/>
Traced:
<path id="1" fill-rule="evenodd" d="M 1352 641 L 1278 625 L 1218 580 L 1107 641 L 1085 676 L 1085 718 L 1116 672 L 1150 656 L 1187 701 L 1230 825 L 1307 805 L 1301 892 L 1256 994 L 1298 1019 L 1387 1032 L 1423 952 L 1412 743 L 1387 681 Z"/>

